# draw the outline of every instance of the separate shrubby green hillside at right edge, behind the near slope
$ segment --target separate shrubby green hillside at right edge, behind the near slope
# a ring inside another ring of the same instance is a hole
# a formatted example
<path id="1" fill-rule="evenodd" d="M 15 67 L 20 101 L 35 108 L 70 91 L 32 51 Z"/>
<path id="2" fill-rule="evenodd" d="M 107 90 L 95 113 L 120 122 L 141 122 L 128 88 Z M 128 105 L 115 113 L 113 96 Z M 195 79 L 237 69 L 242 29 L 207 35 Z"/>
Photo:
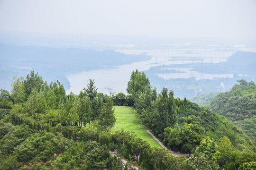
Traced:
<path id="1" fill-rule="evenodd" d="M 219 93 L 206 107 L 226 116 L 256 140 L 256 85 L 253 81 L 238 80 L 229 92 Z"/>

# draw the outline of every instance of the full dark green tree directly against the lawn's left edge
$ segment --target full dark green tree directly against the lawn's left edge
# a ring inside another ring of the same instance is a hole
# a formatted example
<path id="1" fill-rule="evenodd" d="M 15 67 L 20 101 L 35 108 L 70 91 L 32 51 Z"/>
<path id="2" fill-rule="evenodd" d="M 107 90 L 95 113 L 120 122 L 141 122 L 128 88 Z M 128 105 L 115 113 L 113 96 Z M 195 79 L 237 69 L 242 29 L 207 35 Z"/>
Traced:
<path id="1" fill-rule="evenodd" d="M 106 130 L 110 129 L 115 125 L 116 117 L 114 115 L 114 111 L 115 110 L 113 109 L 113 101 L 111 100 L 111 98 L 107 98 L 107 102 L 104 103 L 99 118 L 100 125 L 104 127 Z"/>

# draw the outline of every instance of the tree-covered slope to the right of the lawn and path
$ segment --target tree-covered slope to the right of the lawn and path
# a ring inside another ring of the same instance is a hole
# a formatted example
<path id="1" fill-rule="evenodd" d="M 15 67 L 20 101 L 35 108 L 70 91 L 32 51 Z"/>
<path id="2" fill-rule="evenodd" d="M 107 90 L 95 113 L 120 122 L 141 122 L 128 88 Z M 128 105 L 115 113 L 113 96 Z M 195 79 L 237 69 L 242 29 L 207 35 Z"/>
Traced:
<path id="1" fill-rule="evenodd" d="M 127 92 L 141 119 L 172 150 L 193 153 L 195 159 L 205 156 L 226 168 L 241 153 L 255 156 L 256 143 L 238 126 L 186 98 L 175 98 L 172 90 L 163 88 L 156 95 L 144 73 L 132 73 Z"/>

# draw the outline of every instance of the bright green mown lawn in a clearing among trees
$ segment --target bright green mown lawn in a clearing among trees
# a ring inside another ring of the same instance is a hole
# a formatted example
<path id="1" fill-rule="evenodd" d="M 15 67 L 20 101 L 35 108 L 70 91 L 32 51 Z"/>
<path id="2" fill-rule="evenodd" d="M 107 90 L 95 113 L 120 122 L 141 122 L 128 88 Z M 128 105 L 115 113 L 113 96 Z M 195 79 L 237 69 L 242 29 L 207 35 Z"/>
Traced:
<path id="1" fill-rule="evenodd" d="M 135 132 L 138 137 L 148 141 L 151 146 L 161 148 L 160 144 L 146 132 L 146 126 L 140 123 L 141 120 L 134 114 L 135 110 L 132 107 L 114 106 L 114 108 L 117 121 L 112 128 L 113 131 L 123 128 L 125 131 Z"/>

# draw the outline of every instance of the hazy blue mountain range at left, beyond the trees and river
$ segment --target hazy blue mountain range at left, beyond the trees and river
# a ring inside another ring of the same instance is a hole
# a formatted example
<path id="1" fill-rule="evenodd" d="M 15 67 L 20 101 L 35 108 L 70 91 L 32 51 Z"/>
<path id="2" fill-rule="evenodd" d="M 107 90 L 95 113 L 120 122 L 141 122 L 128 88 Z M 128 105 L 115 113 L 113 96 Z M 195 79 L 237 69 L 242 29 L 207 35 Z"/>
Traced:
<path id="1" fill-rule="evenodd" d="M 69 89 L 70 83 L 65 77 L 68 73 L 149 59 L 151 57 L 146 56 L 146 54 L 126 55 L 108 50 L 60 49 L 0 43 L 0 88 L 10 91 L 11 77 L 15 75 L 27 76 L 28 72 L 34 70 L 46 81 L 59 80 L 66 89 Z"/>

